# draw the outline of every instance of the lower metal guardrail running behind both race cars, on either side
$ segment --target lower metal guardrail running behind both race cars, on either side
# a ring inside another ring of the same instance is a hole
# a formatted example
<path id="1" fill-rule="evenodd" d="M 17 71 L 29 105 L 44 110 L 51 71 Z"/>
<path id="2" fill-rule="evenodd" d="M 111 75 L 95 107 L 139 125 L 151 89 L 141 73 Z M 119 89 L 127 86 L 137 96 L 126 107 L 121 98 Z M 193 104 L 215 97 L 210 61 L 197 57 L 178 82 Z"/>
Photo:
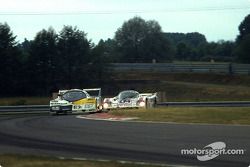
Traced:
<path id="1" fill-rule="evenodd" d="M 158 106 L 182 107 L 250 107 L 250 101 L 223 102 L 161 102 Z M 0 106 L 0 113 L 48 113 L 49 105 Z"/>

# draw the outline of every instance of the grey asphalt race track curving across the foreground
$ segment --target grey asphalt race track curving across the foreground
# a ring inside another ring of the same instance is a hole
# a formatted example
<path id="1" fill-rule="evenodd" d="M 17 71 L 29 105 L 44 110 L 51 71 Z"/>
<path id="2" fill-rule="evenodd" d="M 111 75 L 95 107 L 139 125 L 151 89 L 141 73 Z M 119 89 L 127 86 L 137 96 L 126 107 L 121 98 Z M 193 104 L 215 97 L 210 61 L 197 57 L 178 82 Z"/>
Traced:
<path id="1" fill-rule="evenodd" d="M 213 142 L 244 155 L 201 162 L 181 149 Z M 0 153 L 126 160 L 187 166 L 250 165 L 250 126 L 94 121 L 65 116 L 0 117 Z"/>

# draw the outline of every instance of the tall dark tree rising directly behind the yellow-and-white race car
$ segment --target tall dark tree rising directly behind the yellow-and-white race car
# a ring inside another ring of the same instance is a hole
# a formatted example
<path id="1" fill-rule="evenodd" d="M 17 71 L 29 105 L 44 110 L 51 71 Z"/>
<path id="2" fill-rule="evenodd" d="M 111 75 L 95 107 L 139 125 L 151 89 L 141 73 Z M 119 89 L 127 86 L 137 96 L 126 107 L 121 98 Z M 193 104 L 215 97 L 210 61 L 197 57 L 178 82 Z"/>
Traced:
<path id="1" fill-rule="evenodd" d="M 59 34 L 58 51 L 61 81 L 66 88 L 89 83 L 90 41 L 77 27 L 64 26 Z"/>

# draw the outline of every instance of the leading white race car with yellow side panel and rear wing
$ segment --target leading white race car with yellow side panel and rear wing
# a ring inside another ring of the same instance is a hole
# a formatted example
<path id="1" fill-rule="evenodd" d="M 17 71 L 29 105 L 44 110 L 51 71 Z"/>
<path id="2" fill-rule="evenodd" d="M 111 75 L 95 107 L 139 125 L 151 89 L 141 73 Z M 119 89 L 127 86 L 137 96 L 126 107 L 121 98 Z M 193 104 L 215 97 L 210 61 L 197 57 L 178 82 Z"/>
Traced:
<path id="1" fill-rule="evenodd" d="M 101 88 L 59 90 L 58 97 L 50 101 L 50 112 L 99 111 L 101 103 Z"/>

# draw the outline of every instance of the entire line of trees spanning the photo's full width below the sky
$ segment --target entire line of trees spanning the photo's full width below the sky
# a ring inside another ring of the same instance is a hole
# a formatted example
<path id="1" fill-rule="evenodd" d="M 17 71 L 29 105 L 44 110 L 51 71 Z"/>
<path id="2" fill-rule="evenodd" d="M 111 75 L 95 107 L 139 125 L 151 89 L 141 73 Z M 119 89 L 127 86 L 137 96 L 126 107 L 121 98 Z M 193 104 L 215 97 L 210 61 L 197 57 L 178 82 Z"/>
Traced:
<path id="1" fill-rule="evenodd" d="M 58 89 L 99 86 L 110 78 L 108 63 L 227 61 L 250 63 L 250 15 L 239 25 L 235 41 L 207 42 L 204 35 L 164 33 L 155 20 L 134 17 L 113 39 L 97 45 L 77 27 L 52 27 L 33 40 L 16 41 L 0 23 L 0 96 L 48 95 Z"/>

